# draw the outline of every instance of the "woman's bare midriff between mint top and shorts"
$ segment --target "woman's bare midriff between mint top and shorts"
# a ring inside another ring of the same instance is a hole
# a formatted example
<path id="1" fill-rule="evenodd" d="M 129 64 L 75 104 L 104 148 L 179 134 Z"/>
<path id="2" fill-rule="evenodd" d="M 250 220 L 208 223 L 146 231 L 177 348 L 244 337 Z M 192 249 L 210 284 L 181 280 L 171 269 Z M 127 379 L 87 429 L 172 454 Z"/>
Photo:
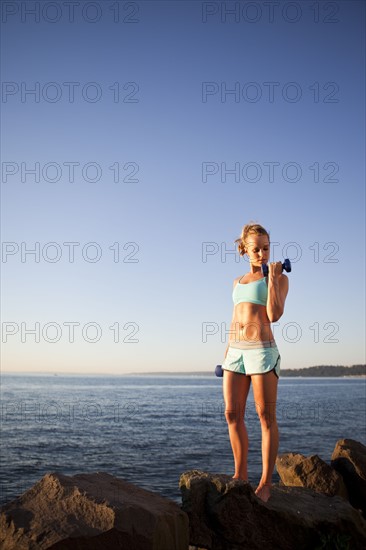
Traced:
<path id="1" fill-rule="evenodd" d="M 241 302 L 234 306 L 234 319 L 231 323 L 230 342 L 268 342 L 274 340 L 266 306 Z"/>

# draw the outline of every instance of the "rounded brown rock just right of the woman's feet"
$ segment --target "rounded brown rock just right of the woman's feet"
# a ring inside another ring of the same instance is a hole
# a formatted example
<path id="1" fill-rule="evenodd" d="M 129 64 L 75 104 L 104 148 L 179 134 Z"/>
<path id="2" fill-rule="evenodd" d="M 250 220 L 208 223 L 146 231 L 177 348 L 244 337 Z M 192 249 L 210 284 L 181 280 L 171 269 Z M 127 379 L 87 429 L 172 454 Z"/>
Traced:
<path id="1" fill-rule="evenodd" d="M 342 476 L 318 455 L 306 457 L 299 453 L 278 455 L 277 472 L 287 487 L 307 487 L 329 496 L 348 499 Z"/>

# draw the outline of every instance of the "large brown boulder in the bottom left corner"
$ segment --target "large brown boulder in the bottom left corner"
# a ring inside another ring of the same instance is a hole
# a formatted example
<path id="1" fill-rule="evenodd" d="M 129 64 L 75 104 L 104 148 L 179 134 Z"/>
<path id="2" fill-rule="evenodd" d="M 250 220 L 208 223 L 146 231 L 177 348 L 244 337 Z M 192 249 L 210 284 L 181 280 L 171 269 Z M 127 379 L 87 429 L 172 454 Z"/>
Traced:
<path id="1" fill-rule="evenodd" d="M 0 515 L 2 550 L 187 550 L 173 501 L 106 473 L 47 474 Z"/>

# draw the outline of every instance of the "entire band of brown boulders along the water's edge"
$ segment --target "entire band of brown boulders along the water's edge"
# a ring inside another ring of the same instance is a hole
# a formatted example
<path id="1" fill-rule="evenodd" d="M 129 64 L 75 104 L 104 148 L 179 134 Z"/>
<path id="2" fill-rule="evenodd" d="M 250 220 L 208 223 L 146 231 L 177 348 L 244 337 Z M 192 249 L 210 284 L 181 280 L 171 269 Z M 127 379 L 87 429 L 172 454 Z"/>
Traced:
<path id="1" fill-rule="evenodd" d="M 278 456 L 276 466 L 281 483 L 272 486 L 266 503 L 257 498 L 248 482 L 199 470 L 185 472 L 179 481 L 182 507 L 105 473 L 47 474 L 2 507 L 0 548 L 366 547 L 364 445 L 348 439 L 338 441 L 331 465 L 318 455 L 287 453 Z"/>

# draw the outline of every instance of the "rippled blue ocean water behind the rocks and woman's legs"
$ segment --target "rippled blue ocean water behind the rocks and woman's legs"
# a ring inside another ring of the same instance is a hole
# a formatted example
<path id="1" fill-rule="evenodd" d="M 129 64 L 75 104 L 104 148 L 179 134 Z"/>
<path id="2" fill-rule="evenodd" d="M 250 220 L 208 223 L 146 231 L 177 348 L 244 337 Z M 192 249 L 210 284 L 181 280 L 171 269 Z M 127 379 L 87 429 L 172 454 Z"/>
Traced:
<path id="1" fill-rule="evenodd" d="M 254 485 L 261 430 L 252 389 L 245 421 Z M 282 377 L 277 421 L 279 453 L 330 463 L 338 439 L 366 445 L 366 379 Z M 234 472 L 222 379 L 3 375 L 0 466 L 1 504 L 55 471 L 107 472 L 180 504 L 183 472 Z"/>

